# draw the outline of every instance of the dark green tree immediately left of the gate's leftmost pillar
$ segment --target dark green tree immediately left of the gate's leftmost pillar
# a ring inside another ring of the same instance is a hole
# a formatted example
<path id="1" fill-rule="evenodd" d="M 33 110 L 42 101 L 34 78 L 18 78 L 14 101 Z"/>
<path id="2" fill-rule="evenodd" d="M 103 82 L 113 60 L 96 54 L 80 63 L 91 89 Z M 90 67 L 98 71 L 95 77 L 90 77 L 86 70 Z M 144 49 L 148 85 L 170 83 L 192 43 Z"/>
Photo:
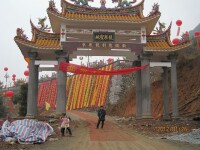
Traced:
<path id="1" fill-rule="evenodd" d="M 20 91 L 14 97 L 14 104 L 19 104 L 19 115 L 25 116 L 27 112 L 27 93 L 28 93 L 28 83 L 24 83 L 20 87 Z"/>

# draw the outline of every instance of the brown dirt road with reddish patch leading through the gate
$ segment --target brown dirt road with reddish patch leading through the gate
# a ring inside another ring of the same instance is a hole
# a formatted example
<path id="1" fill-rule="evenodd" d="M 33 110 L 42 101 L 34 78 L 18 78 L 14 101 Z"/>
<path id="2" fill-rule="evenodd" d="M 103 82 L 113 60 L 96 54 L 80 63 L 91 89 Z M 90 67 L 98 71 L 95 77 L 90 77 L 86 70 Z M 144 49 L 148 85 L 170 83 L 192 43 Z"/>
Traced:
<path id="1" fill-rule="evenodd" d="M 197 145 L 178 143 L 166 139 L 147 137 L 123 129 L 107 117 L 104 129 L 96 129 L 97 117 L 91 113 L 71 112 L 74 120 L 79 120 L 73 128 L 73 137 L 46 142 L 30 147 L 31 150 L 200 150 Z"/>

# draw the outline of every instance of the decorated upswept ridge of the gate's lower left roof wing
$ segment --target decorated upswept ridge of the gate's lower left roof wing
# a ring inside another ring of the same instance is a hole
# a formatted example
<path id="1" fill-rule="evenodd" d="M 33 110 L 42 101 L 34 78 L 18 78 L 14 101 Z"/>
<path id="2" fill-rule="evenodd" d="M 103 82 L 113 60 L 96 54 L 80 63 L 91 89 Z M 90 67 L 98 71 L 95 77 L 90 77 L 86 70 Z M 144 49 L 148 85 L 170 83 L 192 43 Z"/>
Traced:
<path id="1" fill-rule="evenodd" d="M 39 28 L 37 28 L 32 20 L 30 19 L 30 24 L 31 24 L 31 30 L 32 30 L 32 40 L 31 41 L 36 41 L 36 39 L 57 39 L 60 40 L 60 33 L 50 33 L 46 32 L 45 30 L 42 31 Z"/>

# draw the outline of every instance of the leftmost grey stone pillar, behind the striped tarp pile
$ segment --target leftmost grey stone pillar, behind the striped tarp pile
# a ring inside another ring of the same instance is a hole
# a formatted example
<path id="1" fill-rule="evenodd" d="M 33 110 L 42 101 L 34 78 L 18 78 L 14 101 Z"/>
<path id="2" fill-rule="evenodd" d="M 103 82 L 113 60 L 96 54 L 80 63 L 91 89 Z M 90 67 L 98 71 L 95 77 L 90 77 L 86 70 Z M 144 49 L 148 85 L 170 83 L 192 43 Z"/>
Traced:
<path id="1" fill-rule="evenodd" d="M 38 66 L 35 66 L 37 55 L 37 52 L 28 53 L 30 64 L 26 118 L 35 118 L 37 116 Z"/>

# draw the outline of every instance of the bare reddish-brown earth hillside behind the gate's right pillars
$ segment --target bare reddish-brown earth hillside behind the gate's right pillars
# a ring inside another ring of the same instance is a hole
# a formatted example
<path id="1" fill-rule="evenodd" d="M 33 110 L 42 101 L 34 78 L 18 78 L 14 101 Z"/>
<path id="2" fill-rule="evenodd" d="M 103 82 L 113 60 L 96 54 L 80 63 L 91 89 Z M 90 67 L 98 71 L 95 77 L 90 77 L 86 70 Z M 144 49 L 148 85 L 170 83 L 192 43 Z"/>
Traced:
<path id="1" fill-rule="evenodd" d="M 177 63 L 178 103 L 181 116 L 190 117 L 200 115 L 200 56 L 196 58 L 181 57 Z M 170 78 L 170 73 L 169 73 Z M 169 79 L 169 92 L 171 83 Z M 151 85 L 151 105 L 154 118 L 163 114 L 163 84 L 157 80 Z M 171 112 L 171 93 L 170 93 Z M 108 112 L 118 116 L 135 115 L 135 92 L 129 89 L 127 95 L 116 105 L 110 106 Z"/>

